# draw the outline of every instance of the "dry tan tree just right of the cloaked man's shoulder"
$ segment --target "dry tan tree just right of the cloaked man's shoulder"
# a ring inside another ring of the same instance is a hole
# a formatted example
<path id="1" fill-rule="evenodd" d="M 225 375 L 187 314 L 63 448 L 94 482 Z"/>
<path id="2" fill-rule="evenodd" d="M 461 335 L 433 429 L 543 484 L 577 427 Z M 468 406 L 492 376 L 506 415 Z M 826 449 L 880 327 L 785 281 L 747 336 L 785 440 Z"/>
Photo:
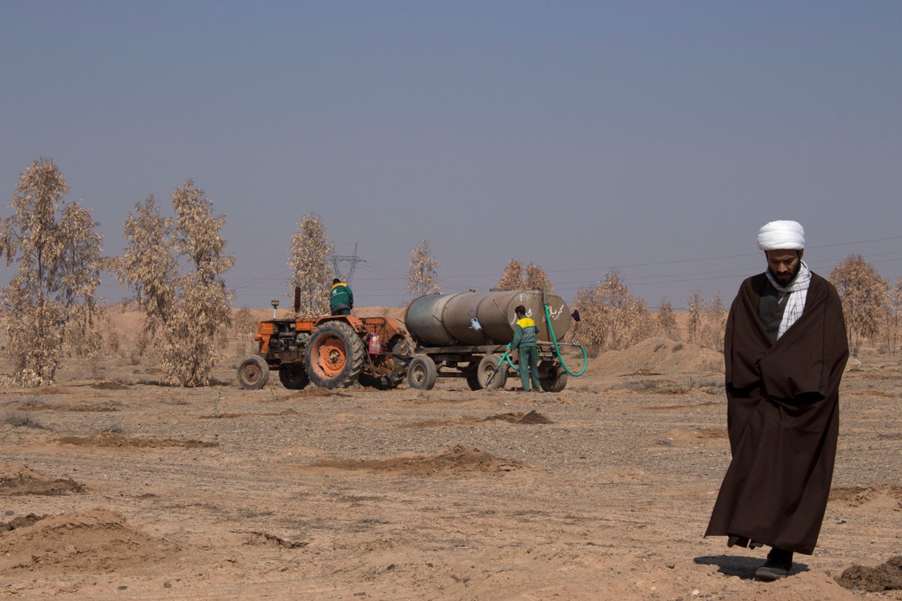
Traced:
<path id="1" fill-rule="evenodd" d="M 887 281 L 861 255 L 850 255 L 829 274 L 842 299 L 842 314 L 852 355 L 862 338 L 877 335 L 886 314 Z"/>

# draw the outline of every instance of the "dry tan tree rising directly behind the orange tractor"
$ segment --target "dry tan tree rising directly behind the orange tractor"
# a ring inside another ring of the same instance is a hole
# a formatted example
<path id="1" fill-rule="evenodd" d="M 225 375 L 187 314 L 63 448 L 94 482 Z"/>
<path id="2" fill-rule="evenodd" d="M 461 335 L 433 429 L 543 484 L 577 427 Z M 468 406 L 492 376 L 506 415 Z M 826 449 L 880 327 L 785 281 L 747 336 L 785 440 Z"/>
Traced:
<path id="1" fill-rule="evenodd" d="M 298 230 L 291 236 L 288 266 L 291 277 L 288 280 L 291 302 L 294 289 L 300 289 L 301 317 L 318 317 L 329 314 L 329 288 L 332 283 L 332 269 L 329 255 L 334 245 L 326 241 L 326 227 L 318 214 L 305 214 L 298 222 Z"/>

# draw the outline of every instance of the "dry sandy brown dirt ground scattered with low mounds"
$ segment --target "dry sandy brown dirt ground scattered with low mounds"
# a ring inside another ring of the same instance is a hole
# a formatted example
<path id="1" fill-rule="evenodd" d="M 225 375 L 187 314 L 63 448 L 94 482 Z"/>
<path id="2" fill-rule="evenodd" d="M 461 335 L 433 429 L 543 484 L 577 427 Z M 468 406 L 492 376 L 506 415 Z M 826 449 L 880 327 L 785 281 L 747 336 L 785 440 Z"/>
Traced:
<path id="1" fill-rule="evenodd" d="M 902 599 L 902 361 L 851 361 L 818 548 L 774 583 L 764 551 L 702 536 L 721 361 L 655 339 L 552 395 L 247 391 L 237 359 L 180 389 L 71 360 L 0 389 L 0 597 Z"/>

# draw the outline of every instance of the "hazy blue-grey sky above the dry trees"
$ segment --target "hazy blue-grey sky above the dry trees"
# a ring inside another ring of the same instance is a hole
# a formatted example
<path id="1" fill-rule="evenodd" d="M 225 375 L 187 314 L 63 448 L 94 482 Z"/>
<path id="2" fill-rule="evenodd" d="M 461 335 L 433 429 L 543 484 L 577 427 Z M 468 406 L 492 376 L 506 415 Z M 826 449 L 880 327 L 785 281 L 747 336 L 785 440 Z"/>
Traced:
<path id="1" fill-rule="evenodd" d="M 357 305 L 410 298 L 423 238 L 444 292 L 516 258 L 568 302 L 612 267 L 652 306 L 729 302 L 774 219 L 815 271 L 902 276 L 896 0 L 0 0 L 0 23 L 0 216 L 50 157 L 115 254 L 193 178 L 239 306 L 285 302 L 313 212 L 366 261 Z"/>

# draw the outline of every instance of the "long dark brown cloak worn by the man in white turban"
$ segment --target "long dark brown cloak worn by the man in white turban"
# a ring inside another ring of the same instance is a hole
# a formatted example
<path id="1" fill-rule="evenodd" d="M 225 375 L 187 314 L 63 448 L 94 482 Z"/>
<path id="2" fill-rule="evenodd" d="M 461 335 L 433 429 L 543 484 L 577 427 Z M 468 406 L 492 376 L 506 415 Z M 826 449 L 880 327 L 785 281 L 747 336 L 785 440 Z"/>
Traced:
<path id="1" fill-rule="evenodd" d="M 767 281 L 762 273 L 742 282 L 727 318 L 732 461 L 704 535 L 739 536 L 810 555 L 833 479 L 849 345 L 840 297 L 814 273 L 805 312 L 771 343 L 758 316 Z"/>

